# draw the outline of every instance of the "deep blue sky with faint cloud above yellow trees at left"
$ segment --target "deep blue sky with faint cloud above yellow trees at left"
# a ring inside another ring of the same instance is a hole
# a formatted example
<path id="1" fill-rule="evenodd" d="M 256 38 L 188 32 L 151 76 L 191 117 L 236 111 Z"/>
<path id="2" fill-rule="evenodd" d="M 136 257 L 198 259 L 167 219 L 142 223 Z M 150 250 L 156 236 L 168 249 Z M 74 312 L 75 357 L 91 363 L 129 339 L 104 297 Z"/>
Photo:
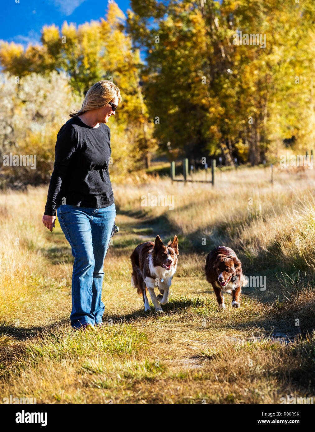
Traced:
<path id="1" fill-rule="evenodd" d="M 43 25 L 64 21 L 82 24 L 91 19 L 105 18 L 108 0 L 6 0 L 1 4 L 0 39 L 26 47 L 40 41 Z M 126 13 L 129 0 L 116 0 Z"/>

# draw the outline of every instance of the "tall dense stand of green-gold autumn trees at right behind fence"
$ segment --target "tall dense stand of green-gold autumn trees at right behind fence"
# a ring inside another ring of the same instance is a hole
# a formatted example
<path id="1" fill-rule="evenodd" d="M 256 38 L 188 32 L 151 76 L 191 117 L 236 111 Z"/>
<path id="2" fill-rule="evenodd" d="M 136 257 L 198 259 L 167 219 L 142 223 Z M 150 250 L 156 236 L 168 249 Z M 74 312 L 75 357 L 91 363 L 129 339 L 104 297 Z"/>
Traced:
<path id="1" fill-rule="evenodd" d="M 127 29 L 147 54 L 144 94 L 170 158 L 174 149 L 194 159 L 222 152 L 232 164 L 242 148 L 255 164 L 313 118 L 304 103 L 313 92 L 312 1 L 250 3 L 132 1 Z M 234 43 L 241 32 L 255 44 Z"/>

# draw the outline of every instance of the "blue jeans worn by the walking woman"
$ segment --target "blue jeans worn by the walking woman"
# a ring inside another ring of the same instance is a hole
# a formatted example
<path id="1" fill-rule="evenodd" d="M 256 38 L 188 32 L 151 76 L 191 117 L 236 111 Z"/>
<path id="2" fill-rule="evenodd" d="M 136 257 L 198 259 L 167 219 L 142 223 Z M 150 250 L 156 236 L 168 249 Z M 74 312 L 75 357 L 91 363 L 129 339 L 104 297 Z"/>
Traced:
<path id="1" fill-rule="evenodd" d="M 103 264 L 116 217 L 115 203 L 93 209 L 70 204 L 57 208 L 58 221 L 74 257 L 71 325 L 101 324 Z"/>

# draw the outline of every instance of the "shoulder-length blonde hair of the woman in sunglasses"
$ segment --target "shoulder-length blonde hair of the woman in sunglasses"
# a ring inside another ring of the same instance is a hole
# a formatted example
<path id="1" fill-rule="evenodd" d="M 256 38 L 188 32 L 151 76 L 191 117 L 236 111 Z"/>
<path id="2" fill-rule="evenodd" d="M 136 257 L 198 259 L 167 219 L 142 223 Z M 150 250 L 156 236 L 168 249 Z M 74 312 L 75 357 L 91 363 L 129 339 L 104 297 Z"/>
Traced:
<path id="1" fill-rule="evenodd" d="M 89 88 L 84 98 L 82 108 L 76 113 L 70 113 L 69 115 L 70 117 L 78 117 L 84 112 L 102 108 L 107 105 L 108 102 L 111 102 L 116 95 L 118 96 L 118 101 L 121 102 L 119 87 L 115 86 L 114 83 L 107 79 L 102 79 L 102 81 L 98 81 Z"/>

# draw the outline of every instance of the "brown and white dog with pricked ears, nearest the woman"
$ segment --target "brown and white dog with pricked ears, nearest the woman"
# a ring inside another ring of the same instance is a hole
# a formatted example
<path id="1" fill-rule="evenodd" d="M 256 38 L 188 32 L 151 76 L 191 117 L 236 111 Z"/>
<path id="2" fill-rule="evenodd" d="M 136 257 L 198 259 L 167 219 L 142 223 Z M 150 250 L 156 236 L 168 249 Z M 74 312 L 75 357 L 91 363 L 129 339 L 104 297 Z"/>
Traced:
<path id="1" fill-rule="evenodd" d="M 132 264 L 131 285 L 137 288 L 138 294 L 143 295 L 144 311 L 150 311 L 146 297 L 146 288 L 157 312 L 163 312 L 161 305 L 169 300 L 169 287 L 177 267 L 178 238 L 169 241 L 165 246 L 159 237 L 153 241 L 146 241 L 135 248 L 130 255 Z M 158 288 L 157 297 L 154 288 Z"/>

